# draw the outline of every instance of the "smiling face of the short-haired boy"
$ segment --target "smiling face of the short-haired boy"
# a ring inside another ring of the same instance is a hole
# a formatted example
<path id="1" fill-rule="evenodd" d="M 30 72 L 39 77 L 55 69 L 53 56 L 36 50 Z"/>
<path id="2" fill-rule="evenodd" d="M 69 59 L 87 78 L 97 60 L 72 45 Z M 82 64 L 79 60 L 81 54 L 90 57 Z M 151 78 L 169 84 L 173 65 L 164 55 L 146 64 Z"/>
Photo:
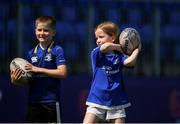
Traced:
<path id="1" fill-rule="evenodd" d="M 38 23 L 35 29 L 36 38 L 40 43 L 49 43 L 55 31 L 46 23 Z"/>

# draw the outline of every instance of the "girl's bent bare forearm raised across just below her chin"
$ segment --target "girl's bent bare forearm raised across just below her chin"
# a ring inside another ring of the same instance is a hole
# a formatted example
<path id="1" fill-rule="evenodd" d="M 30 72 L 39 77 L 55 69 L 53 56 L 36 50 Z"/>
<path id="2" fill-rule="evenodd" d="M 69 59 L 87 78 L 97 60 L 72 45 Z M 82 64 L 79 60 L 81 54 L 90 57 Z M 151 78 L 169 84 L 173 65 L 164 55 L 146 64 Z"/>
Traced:
<path id="1" fill-rule="evenodd" d="M 108 52 L 112 52 L 112 51 L 118 51 L 118 52 L 123 53 L 120 44 L 109 43 L 109 42 L 102 44 L 100 47 L 100 51 L 102 53 L 108 53 Z"/>

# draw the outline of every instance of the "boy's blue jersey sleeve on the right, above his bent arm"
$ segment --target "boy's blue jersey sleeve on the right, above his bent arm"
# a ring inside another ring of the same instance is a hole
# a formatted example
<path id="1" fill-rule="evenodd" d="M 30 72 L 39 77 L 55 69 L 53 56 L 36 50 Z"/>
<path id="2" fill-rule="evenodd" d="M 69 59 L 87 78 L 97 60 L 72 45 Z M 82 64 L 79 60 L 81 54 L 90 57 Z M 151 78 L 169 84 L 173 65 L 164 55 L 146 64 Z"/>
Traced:
<path id="1" fill-rule="evenodd" d="M 56 47 L 56 64 L 57 66 L 66 64 L 64 50 L 60 46 Z"/>

